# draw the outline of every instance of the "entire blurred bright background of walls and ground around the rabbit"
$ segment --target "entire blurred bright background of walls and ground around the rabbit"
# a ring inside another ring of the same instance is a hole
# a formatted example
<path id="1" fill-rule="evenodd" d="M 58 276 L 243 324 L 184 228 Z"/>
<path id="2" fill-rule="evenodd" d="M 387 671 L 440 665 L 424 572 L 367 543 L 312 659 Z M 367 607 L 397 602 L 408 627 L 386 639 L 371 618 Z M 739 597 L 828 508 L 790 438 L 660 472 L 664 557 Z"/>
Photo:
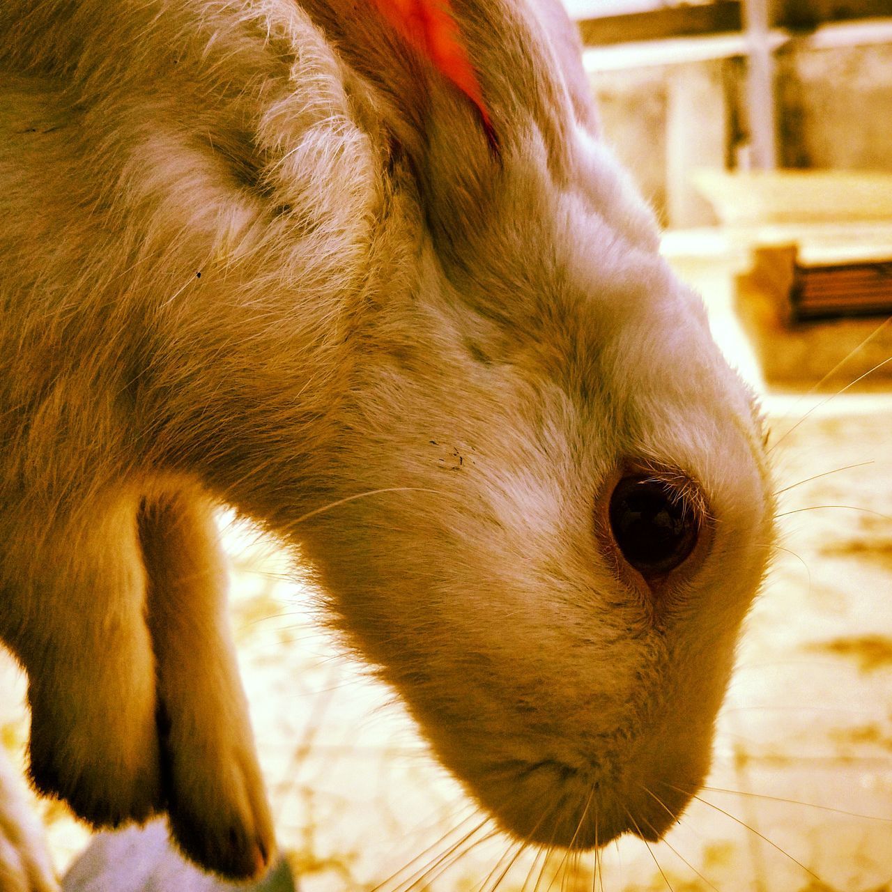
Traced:
<path id="1" fill-rule="evenodd" d="M 781 548 L 713 775 L 658 845 L 518 852 L 322 631 L 276 543 L 221 514 L 280 842 L 305 892 L 892 889 L 892 3 L 567 5 L 607 141 L 772 431 Z M 21 760 L 24 684 L 0 674 Z M 63 871 L 87 831 L 38 807 Z"/>

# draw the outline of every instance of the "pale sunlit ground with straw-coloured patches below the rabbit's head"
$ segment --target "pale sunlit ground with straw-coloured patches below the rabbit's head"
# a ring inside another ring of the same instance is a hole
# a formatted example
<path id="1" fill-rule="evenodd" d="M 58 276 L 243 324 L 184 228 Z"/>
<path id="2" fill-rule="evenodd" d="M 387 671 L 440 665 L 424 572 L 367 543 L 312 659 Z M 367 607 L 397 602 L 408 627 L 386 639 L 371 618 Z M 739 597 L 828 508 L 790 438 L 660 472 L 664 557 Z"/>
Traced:
<path id="1" fill-rule="evenodd" d="M 736 350 L 726 278 L 699 283 L 717 334 Z M 652 854 L 634 839 L 609 847 L 598 888 L 892 890 L 892 392 L 847 393 L 811 411 L 822 399 L 765 401 L 779 488 L 826 475 L 781 496 L 783 550 L 740 649 L 713 789 Z M 440 871 L 437 856 L 475 827 L 462 823 L 469 810 L 458 788 L 399 707 L 386 705 L 390 694 L 318 632 L 284 558 L 250 531 L 230 529 L 227 546 L 261 759 L 304 892 L 384 880 L 386 892 L 491 888 L 507 841 L 474 847 Z M 4 743 L 18 746 L 21 705 L 4 707 L 2 718 Z M 62 869 L 86 834 L 59 805 L 45 815 Z M 500 888 L 532 892 L 532 861 L 518 860 Z M 424 877 L 414 872 L 428 866 Z M 591 856 L 564 872 L 551 888 L 593 888 Z"/>

